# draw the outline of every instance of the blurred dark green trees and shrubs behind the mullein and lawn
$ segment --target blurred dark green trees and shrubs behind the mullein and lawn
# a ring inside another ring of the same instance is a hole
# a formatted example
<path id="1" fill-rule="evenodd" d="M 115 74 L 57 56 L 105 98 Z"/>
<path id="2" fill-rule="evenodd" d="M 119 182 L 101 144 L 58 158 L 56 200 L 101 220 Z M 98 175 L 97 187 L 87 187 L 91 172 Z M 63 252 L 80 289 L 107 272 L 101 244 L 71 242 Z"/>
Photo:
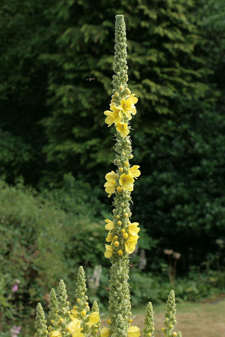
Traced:
<path id="1" fill-rule="evenodd" d="M 2 0 L 0 336 L 30 336 L 35 306 L 76 272 L 107 307 L 114 21 L 124 14 L 136 93 L 132 192 L 140 223 L 132 305 L 225 293 L 225 1 Z M 85 81 L 95 77 L 95 81 Z M 181 254 L 174 285 L 164 249 Z"/>

